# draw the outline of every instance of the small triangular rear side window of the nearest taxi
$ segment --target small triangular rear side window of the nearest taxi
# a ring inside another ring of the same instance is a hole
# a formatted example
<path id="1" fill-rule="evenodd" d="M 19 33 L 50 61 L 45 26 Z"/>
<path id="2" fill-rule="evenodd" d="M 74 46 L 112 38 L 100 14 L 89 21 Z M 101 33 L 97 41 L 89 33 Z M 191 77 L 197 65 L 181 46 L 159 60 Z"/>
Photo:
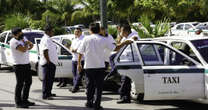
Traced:
<path id="1" fill-rule="evenodd" d="M 126 48 L 119 56 L 118 62 L 120 63 L 140 62 L 139 56 L 136 52 L 136 48 L 132 45 L 126 46 Z"/>

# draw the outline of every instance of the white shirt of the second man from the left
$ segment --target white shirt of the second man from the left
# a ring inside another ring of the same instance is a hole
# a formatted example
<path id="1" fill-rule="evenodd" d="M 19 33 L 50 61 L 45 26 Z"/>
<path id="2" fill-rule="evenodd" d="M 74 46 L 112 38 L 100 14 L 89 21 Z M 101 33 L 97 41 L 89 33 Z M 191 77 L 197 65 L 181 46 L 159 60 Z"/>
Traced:
<path id="1" fill-rule="evenodd" d="M 48 50 L 48 56 L 50 61 L 53 64 L 58 64 L 58 54 L 57 54 L 57 47 L 56 44 L 52 41 L 52 39 L 47 35 L 44 34 L 43 38 L 40 41 L 40 65 L 45 65 L 47 63 L 44 57 L 44 50 Z"/>

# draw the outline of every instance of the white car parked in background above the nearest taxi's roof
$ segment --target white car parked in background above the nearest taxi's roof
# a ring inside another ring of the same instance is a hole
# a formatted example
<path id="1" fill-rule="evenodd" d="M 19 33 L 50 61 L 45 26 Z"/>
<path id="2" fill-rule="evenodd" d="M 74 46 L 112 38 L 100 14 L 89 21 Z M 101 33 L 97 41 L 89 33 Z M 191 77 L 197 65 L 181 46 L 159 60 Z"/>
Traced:
<path id="1" fill-rule="evenodd" d="M 171 28 L 171 34 L 173 35 L 187 35 L 188 30 L 194 30 L 196 29 L 196 25 L 198 25 L 198 22 L 186 22 L 186 23 L 178 23 L 175 26 Z"/>

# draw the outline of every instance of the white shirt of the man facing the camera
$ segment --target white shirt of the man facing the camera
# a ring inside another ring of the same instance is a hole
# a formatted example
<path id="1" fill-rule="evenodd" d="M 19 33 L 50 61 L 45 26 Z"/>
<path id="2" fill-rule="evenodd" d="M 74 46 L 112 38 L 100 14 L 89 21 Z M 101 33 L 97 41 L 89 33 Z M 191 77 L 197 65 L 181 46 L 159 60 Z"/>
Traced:
<path id="1" fill-rule="evenodd" d="M 79 48 L 79 46 L 81 45 L 82 41 L 84 39 L 84 36 L 81 35 L 79 38 L 76 38 L 72 40 L 72 45 L 71 45 L 71 48 L 73 50 L 77 50 Z M 82 60 L 84 58 L 82 57 Z M 78 61 L 78 54 L 77 53 L 73 53 L 72 52 L 72 61 Z"/>

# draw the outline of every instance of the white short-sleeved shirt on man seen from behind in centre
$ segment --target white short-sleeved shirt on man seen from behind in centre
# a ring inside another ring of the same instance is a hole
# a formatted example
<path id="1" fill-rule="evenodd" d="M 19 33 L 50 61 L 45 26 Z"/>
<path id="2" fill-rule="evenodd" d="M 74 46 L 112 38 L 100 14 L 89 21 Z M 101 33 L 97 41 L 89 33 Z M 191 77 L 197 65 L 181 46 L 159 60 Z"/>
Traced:
<path id="1" fill-rule="evenodd" d="M 77 52 L 85 56 L 85 69 L 96 69 L 105 67 L 104 50 L 113 51 L 115 48 L 115 44 L 109 42 L 107 38 L 98 34 L 92 34 L 84 38 Z"/>

